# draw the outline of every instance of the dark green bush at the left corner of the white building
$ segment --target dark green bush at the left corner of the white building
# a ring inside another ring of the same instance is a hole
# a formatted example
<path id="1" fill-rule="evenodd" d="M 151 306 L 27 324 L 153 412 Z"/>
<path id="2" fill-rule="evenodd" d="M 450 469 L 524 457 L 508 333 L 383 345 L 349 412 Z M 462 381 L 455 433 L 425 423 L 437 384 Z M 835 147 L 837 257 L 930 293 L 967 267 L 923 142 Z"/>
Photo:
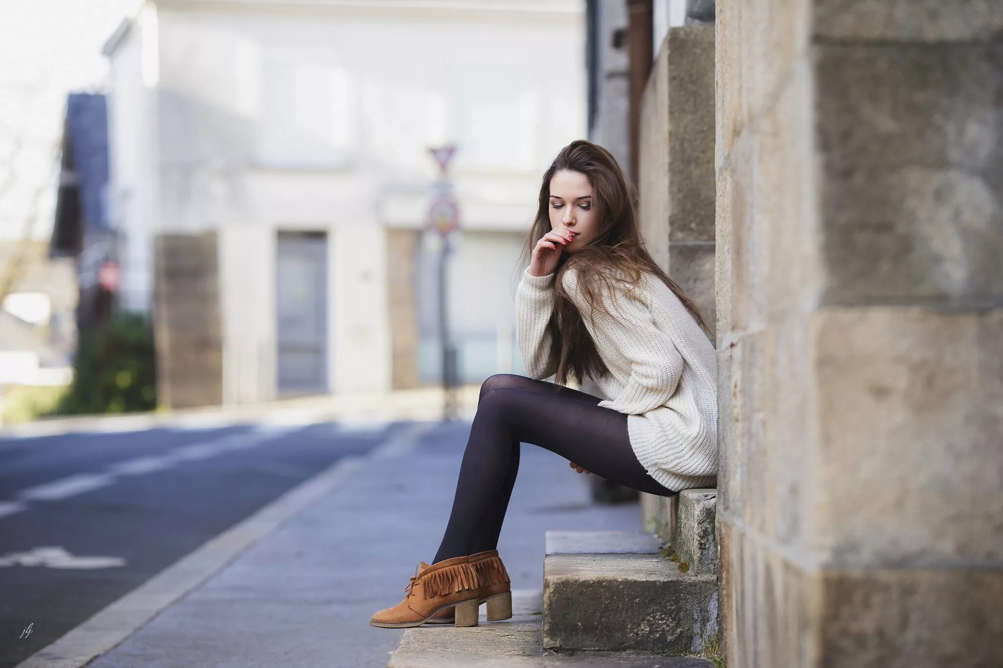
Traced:
<path id="1" fill-rule="evenodd" d="M 154 369 L 149 318 L 118 311 L 81 336 L 73 384 L 50 415 L 152 411 L 156 408 Z"/>

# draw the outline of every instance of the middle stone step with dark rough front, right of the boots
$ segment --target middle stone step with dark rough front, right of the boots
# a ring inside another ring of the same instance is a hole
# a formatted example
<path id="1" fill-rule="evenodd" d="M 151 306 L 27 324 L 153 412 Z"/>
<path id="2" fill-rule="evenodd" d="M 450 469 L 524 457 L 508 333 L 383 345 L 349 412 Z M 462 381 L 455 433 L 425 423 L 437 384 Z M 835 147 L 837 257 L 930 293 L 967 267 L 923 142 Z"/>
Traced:
<path id="1" fill-rule="evenodd" d="M 544 648 L 702 654 L 717 578 L 686 570 L 649 534 L 547 532 Z"/>

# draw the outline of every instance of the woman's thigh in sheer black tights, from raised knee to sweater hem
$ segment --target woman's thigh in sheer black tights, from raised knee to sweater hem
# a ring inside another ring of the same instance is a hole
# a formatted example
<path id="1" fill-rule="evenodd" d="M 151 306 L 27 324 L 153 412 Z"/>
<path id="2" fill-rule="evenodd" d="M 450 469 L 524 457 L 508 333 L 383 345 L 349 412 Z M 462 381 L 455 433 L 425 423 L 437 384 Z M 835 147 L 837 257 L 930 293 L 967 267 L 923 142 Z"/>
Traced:
<path id="1" fill-rule="evenodd" d="M 661 496 L 675 494 L 637 461 L 627 416 L 613 409 L 546 389 L 498 387 L 481 396 L 476 420 L 482 421 L 476 429 L 507 431 L 520 443 L 545 448 L 621 485 Z"/>

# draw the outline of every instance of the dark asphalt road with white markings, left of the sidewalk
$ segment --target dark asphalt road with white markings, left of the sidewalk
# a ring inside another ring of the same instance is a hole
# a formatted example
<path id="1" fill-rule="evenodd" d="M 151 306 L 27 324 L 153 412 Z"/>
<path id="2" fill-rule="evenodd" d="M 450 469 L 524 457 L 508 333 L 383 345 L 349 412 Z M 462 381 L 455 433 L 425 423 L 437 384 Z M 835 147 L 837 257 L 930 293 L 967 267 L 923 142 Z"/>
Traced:
<path id="1" fill-rule="evenodd" d="M 405 426 L 0 438 L 0 668 Z"/>

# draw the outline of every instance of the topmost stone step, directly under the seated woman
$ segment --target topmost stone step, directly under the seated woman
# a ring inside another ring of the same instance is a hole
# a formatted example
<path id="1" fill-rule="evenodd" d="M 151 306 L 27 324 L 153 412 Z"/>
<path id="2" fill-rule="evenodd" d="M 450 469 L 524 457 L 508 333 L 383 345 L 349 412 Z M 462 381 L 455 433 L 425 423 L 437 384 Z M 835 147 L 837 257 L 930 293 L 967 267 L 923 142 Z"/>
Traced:
<path id="1" fill-rule="evenodd" d="M 688 572 L 713 575 L 717 573 L 716 506 L 713 488 L 683 490 L 674 497 L 642 494 L 642 526 L 671 546 Z"/>

